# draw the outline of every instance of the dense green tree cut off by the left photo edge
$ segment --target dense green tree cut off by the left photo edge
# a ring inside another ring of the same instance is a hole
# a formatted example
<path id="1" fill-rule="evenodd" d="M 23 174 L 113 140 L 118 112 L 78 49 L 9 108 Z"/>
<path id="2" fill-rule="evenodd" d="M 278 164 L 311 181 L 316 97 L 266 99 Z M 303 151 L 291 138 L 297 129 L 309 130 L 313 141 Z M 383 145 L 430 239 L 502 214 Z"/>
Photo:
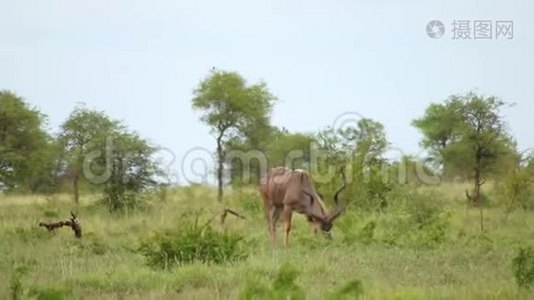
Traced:
<path id="1" fill-rule="evenodd" d="M 0 91 L 0 188 L 52 191 L 57 147 L 45 121 L 24 99 Z"/>

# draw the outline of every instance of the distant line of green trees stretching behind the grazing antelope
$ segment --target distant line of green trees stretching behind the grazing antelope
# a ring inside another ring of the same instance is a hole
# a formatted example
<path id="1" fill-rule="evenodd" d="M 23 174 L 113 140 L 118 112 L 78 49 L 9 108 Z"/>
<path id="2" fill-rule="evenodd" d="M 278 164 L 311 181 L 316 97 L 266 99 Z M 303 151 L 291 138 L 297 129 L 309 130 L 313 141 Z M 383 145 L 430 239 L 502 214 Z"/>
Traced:
<path id="1" fill-rule="evenodd" d="M 390 144 L 377 120 L 359 118 L 344 128 L 290 132 L 271 123 L 276 101 L 265 83 L 248 84 L 236 72 L 216 69 L 194 90 L 192 107 L 202 113 L 201 121 L 217 143 L 219 199 L 223 185 L 257 184 L 267 168 L 280 165 L 307 169 L 312 177 L 315 172 L 316 179 L 344 169 L 353 182 L 349 190 L 377 203 L 392 184 L 450 180 L 472 181 L 468 197 L 478 203 L 485 180 L 534 173 L 534 159 L 518 149 L 501 115 L 507 104 L 492 96 L 468 92 L 430 104 L 423 116 L 411 120 L 423 134 L 420 145 L 428 156 L 396 160 L 385 158 Z M 72 191 L 78 201 L 80 191 L 99 191 L 108 195 L 111 210 L 122 209 L 135 203 L 128 199 L 156 186 L 162 172 L 155 151 L 122 122 L 84 105 L 72 111 L 58 132 L 49 132 L 38 109 L 12 92 L 0 92 L 4 192 Z M 328 191 L 337 180 L 333 176 L 317 184 Z"/>

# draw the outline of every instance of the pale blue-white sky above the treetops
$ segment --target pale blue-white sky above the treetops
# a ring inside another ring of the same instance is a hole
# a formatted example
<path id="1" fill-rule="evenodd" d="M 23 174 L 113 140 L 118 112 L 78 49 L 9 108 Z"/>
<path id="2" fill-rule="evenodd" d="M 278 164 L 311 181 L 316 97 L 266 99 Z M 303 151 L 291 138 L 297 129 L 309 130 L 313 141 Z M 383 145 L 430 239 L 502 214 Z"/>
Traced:
<path id="1" fill-rule="evenodd" d="M 516 103 L 510 131 L 520 149 L 534 147 L 533 1 L 49 0 L 2 1 L 0 11 L 0 89 L 46 113 L 52 131 L 77 102 L 123 120 L 172 151 L 180 183 L 186 153 L 215 148 L 191 109 L 211 67 L 264 80 L 280 99 L 273 124 L 291 131 L 357 112 L 417 155 L 411 120 L 476 90 Z M 427 36 L 431 20 L 445 24 L 441 39 Z M 452 39 L 454 20 L 489 20 L 493 36 Z M 495 37 L 502 20 L 513 39 Z"/>

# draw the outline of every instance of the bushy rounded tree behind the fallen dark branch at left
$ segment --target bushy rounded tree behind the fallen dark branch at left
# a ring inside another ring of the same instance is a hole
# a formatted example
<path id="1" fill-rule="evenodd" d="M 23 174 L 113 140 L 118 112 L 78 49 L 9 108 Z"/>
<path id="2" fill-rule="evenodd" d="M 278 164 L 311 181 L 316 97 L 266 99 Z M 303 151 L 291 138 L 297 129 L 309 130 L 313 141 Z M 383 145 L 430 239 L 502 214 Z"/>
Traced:
<path id="1" fill-rule="evenodd" d="M 71 175 L 77 204 L 83 178 L 102 190 L 110 212 L 134 209 L 141 192 L 161 175 L 152 157 L 156 148 L 104 112 L 77 107 L 61 126 L 59 140 L 65 149 L 63 171 Z"/>

